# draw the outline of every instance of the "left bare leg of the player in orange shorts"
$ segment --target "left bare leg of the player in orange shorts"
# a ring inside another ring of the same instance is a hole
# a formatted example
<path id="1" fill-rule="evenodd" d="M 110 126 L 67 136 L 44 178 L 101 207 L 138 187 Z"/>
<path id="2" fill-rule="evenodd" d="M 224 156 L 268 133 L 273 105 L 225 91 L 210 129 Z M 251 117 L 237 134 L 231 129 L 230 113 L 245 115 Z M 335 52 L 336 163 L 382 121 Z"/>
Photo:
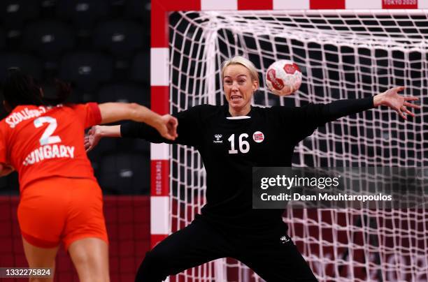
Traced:
<path id="1" fill-rule="evenodd" d="M 24 244 L 25 258 L 29 267 L 50 267 L 52 269 L 50 278 L 30 278 L 30 282 L 53 282 L 55 273 L 55 257 L 57 256 L 58 247 L 55 248 L 39 248 L 33 246 L 22 237 Z"/>

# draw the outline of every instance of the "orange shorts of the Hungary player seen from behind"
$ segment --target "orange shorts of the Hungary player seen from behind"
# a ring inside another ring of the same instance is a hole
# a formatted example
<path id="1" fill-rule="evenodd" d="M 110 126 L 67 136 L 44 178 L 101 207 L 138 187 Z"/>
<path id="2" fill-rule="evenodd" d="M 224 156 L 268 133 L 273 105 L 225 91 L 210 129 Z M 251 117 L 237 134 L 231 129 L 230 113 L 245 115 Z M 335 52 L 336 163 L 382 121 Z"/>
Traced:
<path id="1" fill-rule="evenodd" d="M 22 236 L 31 245 L 66 250 L 78 239 L 95 237 L 108 244 L 103 197 L 97 181 L 49 177 L 23 189 L 17 209 Z"/>

